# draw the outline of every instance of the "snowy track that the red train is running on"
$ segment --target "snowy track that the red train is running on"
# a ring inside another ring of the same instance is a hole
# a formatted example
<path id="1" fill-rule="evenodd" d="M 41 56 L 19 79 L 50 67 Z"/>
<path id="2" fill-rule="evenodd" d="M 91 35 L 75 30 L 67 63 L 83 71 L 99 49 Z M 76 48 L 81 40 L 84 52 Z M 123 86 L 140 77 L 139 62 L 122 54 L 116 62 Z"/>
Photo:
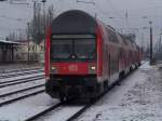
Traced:
<path id="1" fill-rule="evenodd" d="M 134 71 L 132 71 L 131 73 L 133 73 Z M 65 121 L 73 121 L 76 120 L 77 118 L 79 118 L 83 112 L 85 112 L 87 109 L 90 109 L 92 106 L 94 106 L 97 102 L 100 100 L 100 98 L 103 98 L 107 93 L 109 93 L 114 86 L 118 86 L 120 85 L 120 81 L 124 81 L 126 77 L 124 77 L 122 80 L 119 80 L 117 83 L 112 84 L 111 86 L 109 86 L 103 94 L 100 94 L 98 97 L 96 97 L 95 99 L 93 99 L 93 102 L 91 103 L 87 103 L 87 105 L 83 105 L 81 107 L 76 107 L 76 111 L 72 111 L 69 116 L 66 116 L 64 119 Z M 39 121 L 39 120 L 43 120 L 43 118 L 45 119 L 49 119 L 49 113 L 52 113 L 54 111 L 54 113 L 52 115 L 55 115 L 53 119 L 55 119 L 55 117 L 57 117 L 57 108 L 59 108 L 59 112 L 64 112 L 65 110 L 68 110 L 71 108 L 70 106 L 68 106 L 68 109 L 67 106 L 63 104 L 59 104 L 58 106 L 54 106 L 54 107 L 50 107 L 49 109 L 45 109 L 43 110 L 42 112 L 40 113 L 37 113 L 28 119 L 26 119 L 25 121 Z M 56 111 L 55 111 L 56 110 Z"/>

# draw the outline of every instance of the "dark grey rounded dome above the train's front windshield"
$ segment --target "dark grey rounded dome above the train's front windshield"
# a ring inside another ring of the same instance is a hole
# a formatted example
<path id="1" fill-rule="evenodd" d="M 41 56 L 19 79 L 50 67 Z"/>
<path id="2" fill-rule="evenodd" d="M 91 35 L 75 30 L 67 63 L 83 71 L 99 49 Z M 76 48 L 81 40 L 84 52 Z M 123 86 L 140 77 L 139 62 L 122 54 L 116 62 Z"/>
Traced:
<path id="1" fill-rule="evenodd" d="M 97 21 L 85 12 L 70 10 L 52 22 L 52 33 L 95 33 Z"/>

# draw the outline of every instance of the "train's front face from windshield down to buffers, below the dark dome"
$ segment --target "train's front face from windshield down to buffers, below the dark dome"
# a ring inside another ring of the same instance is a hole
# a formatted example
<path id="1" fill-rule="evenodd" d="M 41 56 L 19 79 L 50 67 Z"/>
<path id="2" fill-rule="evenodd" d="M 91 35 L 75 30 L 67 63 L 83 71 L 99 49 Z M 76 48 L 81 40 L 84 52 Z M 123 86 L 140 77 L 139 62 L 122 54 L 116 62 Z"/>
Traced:
<path id="1" fill-rule="evenodd" d="M 53 35 L 46 92 L 56 98 L 92 96 L 97 83 L 96 59 L 94 35 Z"/>

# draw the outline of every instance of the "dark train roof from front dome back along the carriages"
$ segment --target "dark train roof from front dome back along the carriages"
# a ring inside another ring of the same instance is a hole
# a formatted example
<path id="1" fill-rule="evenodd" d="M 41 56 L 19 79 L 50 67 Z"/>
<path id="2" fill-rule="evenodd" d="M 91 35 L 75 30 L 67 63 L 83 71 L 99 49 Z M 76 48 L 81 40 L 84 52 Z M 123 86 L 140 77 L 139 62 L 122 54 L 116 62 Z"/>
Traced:
<path id="1" fill-rule="evenodd" d="M 52 22 L 52 35 L 95 35 L 98 24 L 117 32 L 111 26 L 105 25 L 83 11 L 70 10 L 59 14 Z M 126 46 L 135 49 L 135 42 L 127 39 L 124 35 L 119 35 Z"/>

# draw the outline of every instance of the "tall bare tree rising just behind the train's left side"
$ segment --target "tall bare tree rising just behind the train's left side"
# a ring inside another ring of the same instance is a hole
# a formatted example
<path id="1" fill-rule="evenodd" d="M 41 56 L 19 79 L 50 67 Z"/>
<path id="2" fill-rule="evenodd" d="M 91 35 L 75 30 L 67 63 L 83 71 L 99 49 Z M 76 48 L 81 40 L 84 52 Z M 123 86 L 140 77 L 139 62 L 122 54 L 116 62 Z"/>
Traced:
<path id="1" fill-rule="evenodd" d="M 39 44 L 40 42 L 43 41 L 45 37 L 46 27 L 51 24 L 52 19 L 54 18 L 54 8 L 53 5 L 49 6 L 48 12 L 45 12 L 45 15 L 41 13 L 40 4 L 36 4 L 33 11 L 35 15 L 30 22 L 30 26 L 28 28 L 29 30 L 27 31 L 29 31 L 32 41 Z"/>

